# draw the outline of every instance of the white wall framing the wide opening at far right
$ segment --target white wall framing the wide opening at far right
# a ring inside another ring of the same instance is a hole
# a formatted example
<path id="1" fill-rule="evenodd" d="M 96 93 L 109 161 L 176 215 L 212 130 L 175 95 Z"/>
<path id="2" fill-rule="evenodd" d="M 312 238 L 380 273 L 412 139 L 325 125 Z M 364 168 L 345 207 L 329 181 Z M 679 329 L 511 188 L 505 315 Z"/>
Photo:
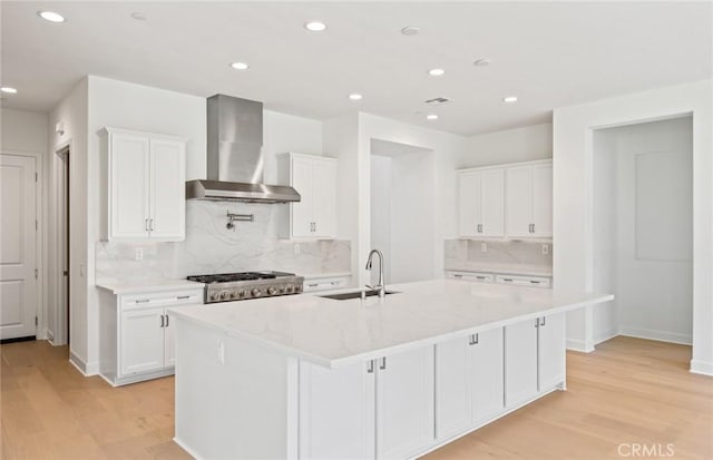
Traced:
<path id="1" fill-rule="evenodd" d="M 693 372 L 713 374 L 713 80 L 554 111 L 554 276 L 563 291 L 594 286 L 593 129 L 693 115 Z M 568 344 L 592 350 L 593 312 L 568 315 Z"/>

